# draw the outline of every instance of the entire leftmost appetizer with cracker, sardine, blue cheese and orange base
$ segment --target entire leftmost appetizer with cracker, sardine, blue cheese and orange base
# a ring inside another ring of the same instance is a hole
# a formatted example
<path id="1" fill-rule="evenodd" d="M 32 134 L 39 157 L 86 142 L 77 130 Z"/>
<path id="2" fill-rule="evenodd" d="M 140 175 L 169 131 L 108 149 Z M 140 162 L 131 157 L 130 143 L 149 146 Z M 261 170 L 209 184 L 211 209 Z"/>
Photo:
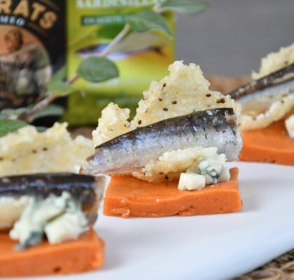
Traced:
<path id="1" fill-rule="evenodd" d="M 108 182 L 73 174 L 93 151 L 90 139 L 71 139 L 66 123 L 0 138 L 0 276 L 102 266 L 104 242 L 93 225 Z"/>

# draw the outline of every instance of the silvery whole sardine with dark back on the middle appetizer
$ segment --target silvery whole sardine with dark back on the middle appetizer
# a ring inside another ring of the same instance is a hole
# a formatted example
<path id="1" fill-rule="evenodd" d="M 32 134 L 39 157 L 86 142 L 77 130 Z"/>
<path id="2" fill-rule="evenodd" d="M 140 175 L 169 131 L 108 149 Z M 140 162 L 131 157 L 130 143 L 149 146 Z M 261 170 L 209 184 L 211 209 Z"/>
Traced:
<path id="1" fill-rule="evenodd" d="M 95 148 L 85 174 L 137 171 L 160 155 L 178 149 L 218 147 L 228 160 L 237 160 L 241 134 L 232 108 L 209 109 L 169 118 L 120 135 Z"/>

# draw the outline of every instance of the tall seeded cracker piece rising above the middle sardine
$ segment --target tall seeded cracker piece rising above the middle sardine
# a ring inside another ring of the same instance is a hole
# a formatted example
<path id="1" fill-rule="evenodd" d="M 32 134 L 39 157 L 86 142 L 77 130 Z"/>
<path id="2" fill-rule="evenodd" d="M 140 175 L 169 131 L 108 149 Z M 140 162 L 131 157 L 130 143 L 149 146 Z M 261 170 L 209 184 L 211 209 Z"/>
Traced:
<path id="1" fill-rule="evenodd" d="M 137 114 L 131 122 L 128 121 L 130 110 L 120 109 L 113 103 L 106 106 L 98 120 L 97 129 L 92 133 L 94 146 L 137 127 L 193 111 L 232 107 L 239 118 L 241 106 L 229 96 L 209 90 L 209 85 L 200 66 L 174 62 L 169 66 L 169 76 L 159 82 L 152 82 L 149 89 L 144 91 Z"/>

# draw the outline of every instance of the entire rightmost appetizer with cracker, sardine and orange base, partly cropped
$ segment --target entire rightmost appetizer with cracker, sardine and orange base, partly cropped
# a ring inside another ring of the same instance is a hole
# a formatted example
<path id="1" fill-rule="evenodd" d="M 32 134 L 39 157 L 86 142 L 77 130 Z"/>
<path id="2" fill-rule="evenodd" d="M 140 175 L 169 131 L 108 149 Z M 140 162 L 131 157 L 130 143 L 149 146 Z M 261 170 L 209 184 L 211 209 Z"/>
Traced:
<path id="1" fill-rule="evenodd" d="M 240 160 L 294 165 L 294 44 L 263 58 L 253 79 L 230 92 L 242 106 Z"/>

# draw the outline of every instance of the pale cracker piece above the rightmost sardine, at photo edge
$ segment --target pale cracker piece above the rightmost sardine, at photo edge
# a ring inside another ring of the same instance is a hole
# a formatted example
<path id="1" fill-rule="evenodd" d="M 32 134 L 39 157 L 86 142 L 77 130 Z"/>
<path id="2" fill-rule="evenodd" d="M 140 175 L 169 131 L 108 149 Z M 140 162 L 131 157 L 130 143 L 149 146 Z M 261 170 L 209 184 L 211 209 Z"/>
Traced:
<path id="1" fill-rule="evenodd" d="M 258 80 L 292 63 L 294 63 L 294 43 L 262 58 L 259 73 L 253 72 L 252 78 Z"/>

